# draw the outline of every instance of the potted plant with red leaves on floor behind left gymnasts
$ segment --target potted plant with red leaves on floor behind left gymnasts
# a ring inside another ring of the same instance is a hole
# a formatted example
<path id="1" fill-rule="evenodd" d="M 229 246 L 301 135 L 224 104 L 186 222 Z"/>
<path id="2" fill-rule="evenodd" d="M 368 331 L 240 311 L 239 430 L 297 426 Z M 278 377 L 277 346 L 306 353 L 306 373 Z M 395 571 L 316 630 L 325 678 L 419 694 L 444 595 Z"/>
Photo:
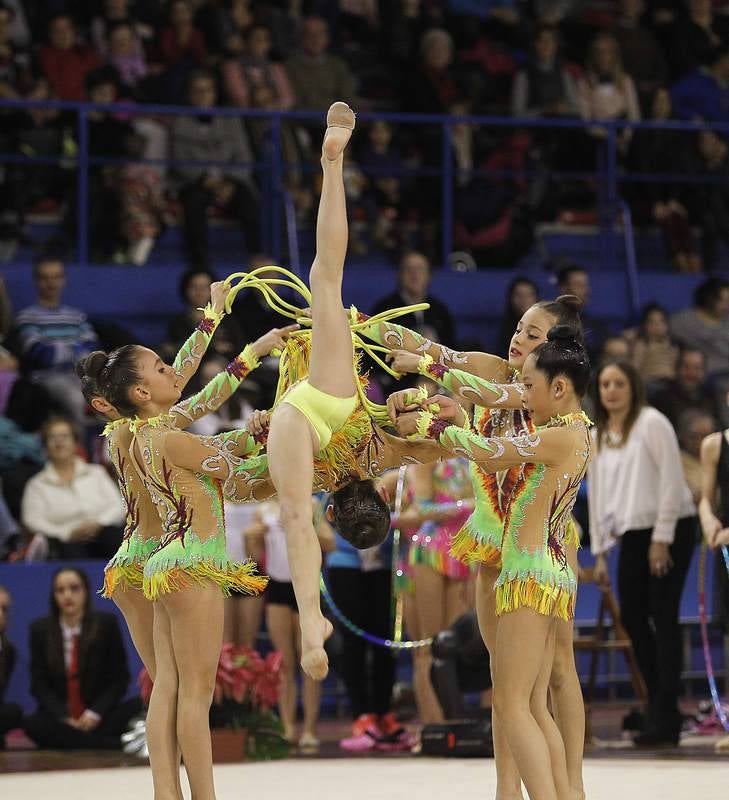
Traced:
<path id="1" fill-rule="evenodd" d="M 278 652 L 262 658 L 249 647 L 227 642 L 220 651 L 210 706 L 213 760 L 216 763 L 284 758 L 289 743 L 273 710 L 281 688 Z M 142 670 L 142 698 L 149 702 L 152 682 Z"/>

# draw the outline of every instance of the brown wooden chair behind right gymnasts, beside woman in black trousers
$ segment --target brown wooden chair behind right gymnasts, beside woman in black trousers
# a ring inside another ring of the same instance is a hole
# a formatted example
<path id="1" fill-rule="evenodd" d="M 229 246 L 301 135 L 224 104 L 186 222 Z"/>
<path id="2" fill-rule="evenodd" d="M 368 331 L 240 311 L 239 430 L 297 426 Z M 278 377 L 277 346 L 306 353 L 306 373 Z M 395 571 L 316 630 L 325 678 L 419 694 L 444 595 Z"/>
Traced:
<path id="1" fill-rule="evenodd" d="M 595 583 L 594 569 L 582 570 L 580 583 Z M 606 620 L 606 615 L 608 614 L 612 619 L 612 629 L 615 634 L 613 638 L 609 638 L 610 623 Z M 638 668 L 638 662 L 635 659 L 633 643 L 630 641 L 630 637 L 620 621 L 618 601 L 615 599 L 615 595 L 609 585 L 601 589 L 600 592 L 600 605 L 597 611 L 597 623 L 594 631 L 590 636 L 576 636 L 574 646 L 576 651 L 588 650 L 592 654 L 585 698 L 585 739 L 590 741 L 592 739 L 591 706 L 595 698 L 597 665 L 600 653 L 622 652 L 630 670 L 630 680 L 636 697 L 644 703 L 648 700 L 648 691 Z"/>

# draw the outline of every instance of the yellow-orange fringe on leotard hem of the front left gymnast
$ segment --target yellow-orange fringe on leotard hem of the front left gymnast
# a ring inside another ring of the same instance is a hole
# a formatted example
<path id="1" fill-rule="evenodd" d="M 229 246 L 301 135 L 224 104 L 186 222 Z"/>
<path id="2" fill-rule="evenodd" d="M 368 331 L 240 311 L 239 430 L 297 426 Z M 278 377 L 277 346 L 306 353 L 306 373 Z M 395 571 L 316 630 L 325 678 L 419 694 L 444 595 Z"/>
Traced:
<path id="1" fill-rule="evenodd" d="M 232 591 L 242 594 L 260 594 L 268 584 L 266 575 L 254 574 L 256 564 L 231 563 L 227 568 L 218 567 L 210 561 L 199 561 L 194 566 L 174 567 L 164 572 L 144 576 L 144 596 L 147 600 L 157 600 L 160 595 L 186 589 L 191 583 L 205 584 L 210 581 L 216 583 L 225 597 L 230 597 Z"/>

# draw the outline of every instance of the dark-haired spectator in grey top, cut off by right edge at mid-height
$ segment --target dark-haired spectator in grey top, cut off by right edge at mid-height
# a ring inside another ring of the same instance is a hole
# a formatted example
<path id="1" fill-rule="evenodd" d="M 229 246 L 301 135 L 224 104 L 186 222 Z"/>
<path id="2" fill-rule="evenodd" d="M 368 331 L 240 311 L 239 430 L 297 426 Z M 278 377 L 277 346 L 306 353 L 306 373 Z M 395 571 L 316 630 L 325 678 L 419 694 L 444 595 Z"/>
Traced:
<path id="1" fill-rule="evenodd" d="M 693 307 L 671 317 L 671 335 L 682 347 L 704 354 L 708 375 L 729 370 L 729 281 L 700 283 Z"/>

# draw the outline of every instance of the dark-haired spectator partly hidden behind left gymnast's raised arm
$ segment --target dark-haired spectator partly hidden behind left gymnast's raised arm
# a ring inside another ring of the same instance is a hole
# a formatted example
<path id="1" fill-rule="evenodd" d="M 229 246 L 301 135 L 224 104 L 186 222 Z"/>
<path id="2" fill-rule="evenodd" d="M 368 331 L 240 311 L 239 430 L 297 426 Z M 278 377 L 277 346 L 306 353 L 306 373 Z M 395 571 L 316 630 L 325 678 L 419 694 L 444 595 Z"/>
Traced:
<path id="1" fill-rule="evenodd" d="M 204 269 L 195 268 L 183 273 L 180 278 L 180 299 L 187 307 L 182 313 L 172 317 L 167 325 L 170 352 L 176 353 L 202 320 L 202 309 L 210 302 L 210 286 L 215 280 L 215 275 Z M 218 326 L 207 353 L 224 358 L 227 364 L 243 349 L 244 344 L 243 334 L 235 317 L 227 314 Z"/>

